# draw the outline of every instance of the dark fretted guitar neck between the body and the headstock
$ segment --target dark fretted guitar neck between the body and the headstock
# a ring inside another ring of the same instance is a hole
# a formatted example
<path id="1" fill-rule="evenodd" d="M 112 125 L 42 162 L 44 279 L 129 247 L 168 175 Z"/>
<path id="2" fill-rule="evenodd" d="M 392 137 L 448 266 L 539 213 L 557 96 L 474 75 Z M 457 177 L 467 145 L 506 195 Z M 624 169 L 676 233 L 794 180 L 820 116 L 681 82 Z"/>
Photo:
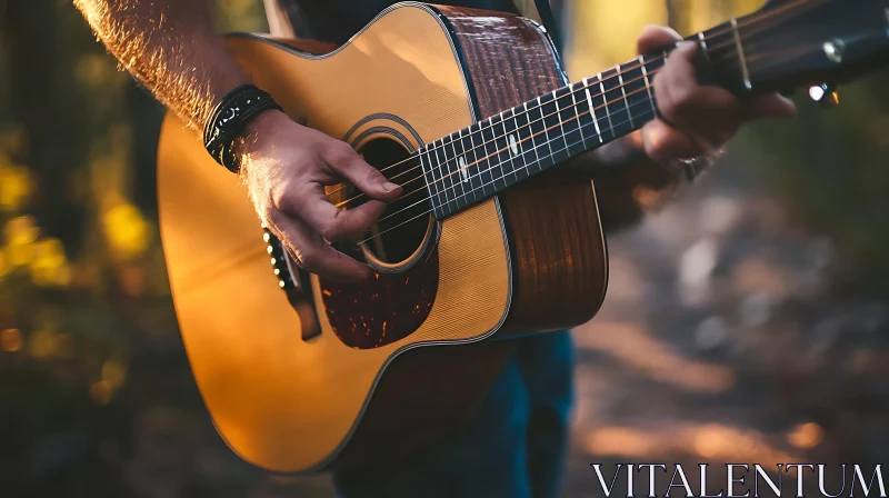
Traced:
<path id="1" fill-rule="evenodd" d="M 690 37 L 701 74 L 752 90 L 732 20 Z M 427 143 L 419 152 L 431 209 L 442 219 L 539 172 L 629 135 L 658 117 L 653 76 L 669 49 L 640 56 Z"/>

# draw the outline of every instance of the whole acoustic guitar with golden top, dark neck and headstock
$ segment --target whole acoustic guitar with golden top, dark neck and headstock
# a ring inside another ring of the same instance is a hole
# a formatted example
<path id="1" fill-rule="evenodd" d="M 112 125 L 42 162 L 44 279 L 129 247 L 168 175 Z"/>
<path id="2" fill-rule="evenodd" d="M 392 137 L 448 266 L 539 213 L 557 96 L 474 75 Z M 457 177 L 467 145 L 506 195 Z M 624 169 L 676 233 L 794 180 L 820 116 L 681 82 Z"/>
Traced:
<path id="1" fill-rule="evenodd" d="M 889 0 L 772 0 L 689 38 L 738 96 L 832 84 L 889 60 Z M 403 187 L 359 243 L 362 283 L 302 272 L 237 176 L 183 123 L 159 145 L 160 229 L 212 420 L 280 472 L 422 450 L 471 415 L 518 337 L 599 309 L 608 258 L 588 177 L 558 168 L 658 116 L 669 50 L 569 82 L 539 24 L 399 3 L 341 47 L 231 34 L 254 83 Z M 830 83 L 830 84 L 827 84 Z M 342 209 L 364 199 L 329 189 Z"/>

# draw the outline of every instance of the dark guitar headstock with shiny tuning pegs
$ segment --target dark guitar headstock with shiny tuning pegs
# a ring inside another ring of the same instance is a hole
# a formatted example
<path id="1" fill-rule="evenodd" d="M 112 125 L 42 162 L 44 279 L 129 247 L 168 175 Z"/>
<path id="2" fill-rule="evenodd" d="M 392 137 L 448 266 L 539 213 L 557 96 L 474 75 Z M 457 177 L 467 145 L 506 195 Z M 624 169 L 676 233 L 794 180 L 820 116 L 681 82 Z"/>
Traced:
<path id="1" fill-rule="evenodd" d="M 720 81 L 740 92 L 836 84 L 889 63 L 889 0 L 770 0 L 703 33 Z"/>

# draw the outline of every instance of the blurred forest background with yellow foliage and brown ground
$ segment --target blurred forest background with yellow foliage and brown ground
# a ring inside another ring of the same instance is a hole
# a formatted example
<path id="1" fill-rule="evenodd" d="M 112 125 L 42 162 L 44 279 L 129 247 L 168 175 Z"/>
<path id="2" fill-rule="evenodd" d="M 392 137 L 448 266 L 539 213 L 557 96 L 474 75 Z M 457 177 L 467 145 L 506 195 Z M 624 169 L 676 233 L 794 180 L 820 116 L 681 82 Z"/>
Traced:
<path id="1" fill-rule="evenodd" d="M 264 30 L 217 0 L 221 30 Z M 573 78 L 756 0 L 566 1 Z M 701 185 L 611 239 L 602 313 L 576 331 L 566 496 L 591 461 L 889 457 L 889 74 L 751 127 Z M 805 96 L 802 96 L 805 97 Z M 330 496 L 219 440 L 176 326 L 157 228 L 163 110 L 68 0 L 0 0 L 0 494 Z M 800 460 L 793 460 L 800 461 Z"/>

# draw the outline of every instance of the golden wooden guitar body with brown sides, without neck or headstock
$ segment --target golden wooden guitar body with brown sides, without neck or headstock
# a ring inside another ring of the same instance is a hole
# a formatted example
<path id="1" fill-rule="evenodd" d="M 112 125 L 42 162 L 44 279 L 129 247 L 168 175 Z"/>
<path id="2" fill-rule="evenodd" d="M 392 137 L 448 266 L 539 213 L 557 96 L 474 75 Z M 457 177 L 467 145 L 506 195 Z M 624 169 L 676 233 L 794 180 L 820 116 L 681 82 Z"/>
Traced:
<path id="1" fill-rule="evenodd" d="M 394 6 L 339 48 L 229 42 L 286 112 L 369 156 L 407 153 L 566 82 L 533 22 L 451 7 Z M 422 449 L 471 415 L 516 336 L 582 323 L 605 297 L 593 186 L 570 172 L 431 222 L 410 263 L 370 282 L 311 276 L 299 295 L 279 287 L 281 272 L 297 272 L 279 255 L 273 275 L 239 179 L 173 116 L 158 161 L 163 249 L 194 377 L 228 445 L 270 470 L 313 474 Z"/>

